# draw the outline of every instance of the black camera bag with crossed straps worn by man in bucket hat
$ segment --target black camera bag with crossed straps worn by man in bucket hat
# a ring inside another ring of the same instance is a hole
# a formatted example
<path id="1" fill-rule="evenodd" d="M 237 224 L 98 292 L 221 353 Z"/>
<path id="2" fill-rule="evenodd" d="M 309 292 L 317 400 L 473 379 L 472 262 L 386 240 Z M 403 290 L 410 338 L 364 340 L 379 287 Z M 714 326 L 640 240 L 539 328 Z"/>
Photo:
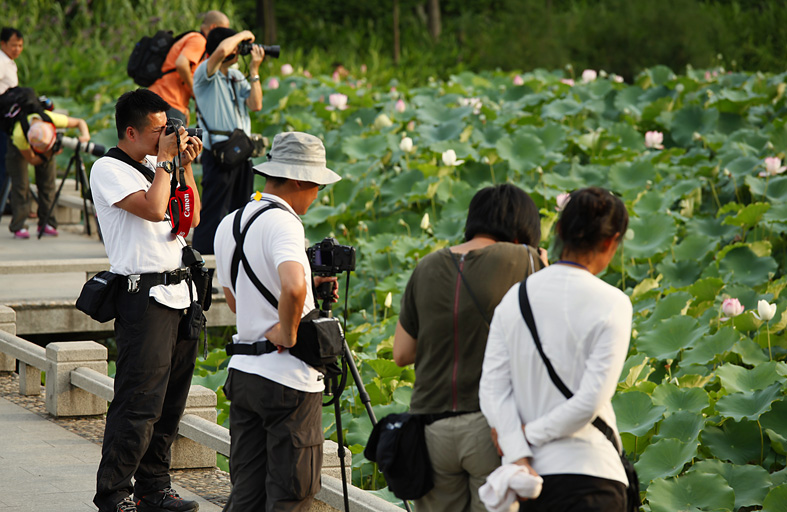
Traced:
<path id="1" fill-rule="evenodd" d="M 232 288 L 233 292 L 236 290 L 236 282 L 238 279 L 238 271 L 240 265 L 243 265 L 243 270 L 249 277 L 249 280 L 254 284 L 257 290 L 262 294 L 265 299 L 270 302 L 271 306 L 279 309 L 279 301 L 274 297 L 268 288 L 262 284 L 262 281 L 254 273 L 251 268 L 246 254 L 243 252 L 243 243 L 246 240 L 246 234 L 249 231 L 252 223 L 268 210 L 279 208 L 281 210 L 289 211 L 284 206 L 277 202 L 271 202 L 254 212 L 252 217 L 241 228 L 241 218 L 243 217 L 243 210 L 241 208 L 235 212 L 235 218 L 232 225 L 232 235 L 235 238 L 235 252 L 232 255 L 232 263 L 230 267 Z M 243 354 L 243 355 L 260 355 L 275 352 L 276 345 L 269 340 L 257 341 L 255 343 L 232 343 L 226 346 L 227 355 Z M 341 374 L 341 369 L 337 363 L 339 357 L 344 354 L 344 332 L 342 331 L 339 319 L 333 317 L 320 316 L 320 310 L 314 308 L 309 311 L 298 325 L 297 341 L 295 346 L 289 349 L 290 354 L 297 357 L 304 363 L 316 368 L 326 375 L 326 377 L 335 377 Z"/>

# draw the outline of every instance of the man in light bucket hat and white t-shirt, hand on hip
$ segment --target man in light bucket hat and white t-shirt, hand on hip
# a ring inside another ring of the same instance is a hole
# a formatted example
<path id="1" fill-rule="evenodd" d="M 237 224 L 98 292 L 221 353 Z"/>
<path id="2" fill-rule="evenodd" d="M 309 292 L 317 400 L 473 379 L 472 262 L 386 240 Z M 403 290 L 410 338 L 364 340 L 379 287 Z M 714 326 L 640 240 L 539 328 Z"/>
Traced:
<path id="1" fill-rule="evenodd" d="M 268 159 L 254 167 L 267 178 L 262 193 L 221 221 L 214 242 L 217 279 L 237 315 L 232 348 L 240 347 L 231 350 L 237 355 L 230 359 L 224 385 L 232 402 L 233 484 L 225 511 L 305 511 L 320 489 L 324 377 L 287 349 L 296 343 L 301 318 L 314 308 L 299 215 L 320 189 L 341 178 L 326 167 L 322 141 L 306 133 L 276 135 Z M 263 297 L 243 264 L 235 260 L 238 267 L 232 268 L 234 228 L 245 231 L 241 250 L 278 309 Z M 336 278 L 315 280 L 320 284 Z M 251 351 L 243 348 L 265 340 L 273 344 L 265 344 L 272 351 L 244 354 Z"/>

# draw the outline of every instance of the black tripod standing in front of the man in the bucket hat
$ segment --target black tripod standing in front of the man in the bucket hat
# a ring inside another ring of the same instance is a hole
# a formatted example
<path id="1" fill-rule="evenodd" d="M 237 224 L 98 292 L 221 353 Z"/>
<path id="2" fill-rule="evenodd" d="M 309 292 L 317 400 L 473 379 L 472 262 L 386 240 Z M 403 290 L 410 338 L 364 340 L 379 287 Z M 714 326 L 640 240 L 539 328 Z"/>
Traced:
<path id="1" fill-rule="evenodd" d="M 347 271 L 347 279 L 345 281 L 345 291 L 344 297 L 347 298 L 347 294 L 350 292 L 350 272 Z M 317 287 L 317 298 L 322 300 L 322 306 L 320 307 L 320 316 L 321 317 L 331 317 L 331 299 L 333 298 L 333 284 L 332 283 L 323 283 Z M 347 307 L 345 305 L 344 308 L 344 330 L 347 331 Z M 369 419 L 372 421 L 372 427 L 377 425 L 377 418 L 374 415 L 374 410 L 372 409 L 372 400 L 369 398 L 369 393 L 366 391 L 366 387 L 363 385 L 363 381 L 361 380 L 361 374 L 358 372 L 358 367 L 355 366 L 355 361 L 353 360 L 353 353 L 350 350 L 350 345 L 347 344 L 347 340 L 344 339 L 344 351 L 342 355 L 342 372 L 341 372 L 341 379 L 337 382 L 336 377 L 329 379 L 327 386 L 326 386 L 326 393 L 332 393 L 333 398 L 331 398 L 328 402 L 323 403 L 323 406 L 328 406 L 333 404 L 334 407 L 334 416 L 336 418 L 336 441 L 339 445 L 339 449 L 337 451 L 337 455 L 339 456 L 339 464 L 342 471 L 342 491 L 344 493 L 344 510 L 348 512 L 350 510 L 350 498 L 347 493 L 347 475 L 345 473 L 344 467 L 344 441 L 342 440 L 342 411 L 341 411 L 341 395 L 344 391 L 345 386 L 347 385 L 347 369 L 350 369 L 350 373 L 353 376 L 353 380 L 355 381 L 355 386 L 358 388 L 358 396 L 361 399 L 361 403 L 366 408 L 366 413 L 369 415 Z M 403 501 L 404 508 L 407 512 L 410 511 L 410 505 L 407 503 L 407 500 Z"/>

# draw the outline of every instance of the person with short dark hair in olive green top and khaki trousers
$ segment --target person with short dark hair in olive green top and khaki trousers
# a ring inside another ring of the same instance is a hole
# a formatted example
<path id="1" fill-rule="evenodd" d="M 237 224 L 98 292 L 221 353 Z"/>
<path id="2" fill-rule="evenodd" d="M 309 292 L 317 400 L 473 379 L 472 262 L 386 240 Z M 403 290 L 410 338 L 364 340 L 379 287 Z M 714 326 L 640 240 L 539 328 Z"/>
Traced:
<path id="1" fill-rule="evenodd" d="M 478 403 L 489 322 L 503 295 L 544 266 L 538 209 L 522 189 L 480 190 L 465 242 L 426 256 L 407 283 L 394 361 L 415 363 L 410 412 L 425 415 L 435 486 L 418 512 L 484 511 L 478 488 L 500 465 Z"/>

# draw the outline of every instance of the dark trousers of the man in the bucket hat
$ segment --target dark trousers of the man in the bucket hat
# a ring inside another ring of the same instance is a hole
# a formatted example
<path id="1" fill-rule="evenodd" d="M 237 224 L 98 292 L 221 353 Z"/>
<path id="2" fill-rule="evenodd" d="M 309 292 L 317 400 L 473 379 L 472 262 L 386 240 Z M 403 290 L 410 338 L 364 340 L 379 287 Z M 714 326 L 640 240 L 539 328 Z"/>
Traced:
<path id="1" fill-rule="evenodd" d="M 230 479 L 226 512 L 311 509 L 320 490 L 322 394 L 231 369 Z"/>

